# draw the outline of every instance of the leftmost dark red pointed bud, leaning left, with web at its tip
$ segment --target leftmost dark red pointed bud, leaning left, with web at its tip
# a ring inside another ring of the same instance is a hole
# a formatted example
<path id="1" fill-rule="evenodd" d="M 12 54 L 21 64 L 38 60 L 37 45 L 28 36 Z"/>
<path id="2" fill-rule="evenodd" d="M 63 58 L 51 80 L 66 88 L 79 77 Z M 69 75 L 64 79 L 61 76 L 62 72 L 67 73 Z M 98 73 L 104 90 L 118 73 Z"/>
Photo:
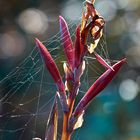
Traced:
<path id="1" fill-rule="evenodd" d="M 63 92 L 65 90 L 65 86 L 52 56 L 50 55 L 47 48 L 38 39 L 36 39 L 36 45 L 40 49 L 40 53 L 43 56 L 45 65 L 48 71 L 50 72 L 51 76 L 53 77 L 59 91 Z"/>

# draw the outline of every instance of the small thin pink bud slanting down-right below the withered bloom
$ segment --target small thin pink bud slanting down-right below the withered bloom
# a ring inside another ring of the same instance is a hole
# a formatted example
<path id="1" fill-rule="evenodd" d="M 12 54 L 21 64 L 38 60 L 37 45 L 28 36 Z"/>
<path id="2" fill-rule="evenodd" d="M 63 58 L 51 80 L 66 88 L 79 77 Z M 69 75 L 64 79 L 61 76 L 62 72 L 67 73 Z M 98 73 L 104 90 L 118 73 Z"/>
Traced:
<path id="1" fill-rule="evenodd" d="M 107 69 L 111 69 L 113 70 L 112 66 L 110 66 L 99 54 L 97 54 L 96 52 L 94 52 L 95 57 L 97 59 L 97 61 L 102 64 L 104 67 L 106 67 Z M 114 70 L 113 70 L 114 71 Z"/>

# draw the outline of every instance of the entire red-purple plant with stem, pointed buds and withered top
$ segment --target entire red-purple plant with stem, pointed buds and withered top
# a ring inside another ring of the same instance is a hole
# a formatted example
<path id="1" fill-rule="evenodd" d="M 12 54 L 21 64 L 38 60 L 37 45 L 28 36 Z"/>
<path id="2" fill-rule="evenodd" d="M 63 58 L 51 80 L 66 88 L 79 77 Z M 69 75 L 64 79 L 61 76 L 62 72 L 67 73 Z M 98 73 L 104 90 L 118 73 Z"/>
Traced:
<path id="1" fill-rule="evenodd" d="M 63 49 L 67 58 L 67 62 L 64 62 L 65 83 L 63 83 L 57 65 L 49 51 L 38 39 L 36 39 L 36 44 L 43 57 L 46 68 L 57 86 L 56 96 L 60 99 L 63 111 L 61 140 L 70 140 L 73 131 L 82 126 L 83 115 L 87 106 L 110 83 L 125 63 L 125 59 L 122 59 L 111 66 L 97 54 L 96 47 L 102 37 L 105 21 L 94 8 L 94 2 L 95 1 L 86 1 L 86 8 L 82 13 L 82 21 L 76 28 L 74 42 L 71 39 L 65 19 L 62 16 L 59 17 Z M 91 41 L 89 41 L 89 37 L 92 38 Z M 78 105 L 76 105 L 76 108 L 74 108 L 75 98 L 78 95 L 80 87 L 80 78 L 86 67 L 84 56 L 88 53 L 93 53 L 96 60 L 107 70 L 92 84 L 79 101 Z M 46 130 L 46 140 L 57 139 L 57 124 L 58 107 L 55 98 L 48 121 L 49 128 Z"/>

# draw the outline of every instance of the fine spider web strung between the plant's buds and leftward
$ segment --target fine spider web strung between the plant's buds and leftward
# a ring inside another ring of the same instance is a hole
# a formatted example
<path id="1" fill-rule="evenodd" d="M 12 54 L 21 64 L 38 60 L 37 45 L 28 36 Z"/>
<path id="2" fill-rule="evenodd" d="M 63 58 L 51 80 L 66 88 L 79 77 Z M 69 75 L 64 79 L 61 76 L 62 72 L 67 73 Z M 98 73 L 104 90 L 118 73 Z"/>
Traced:
<path id="1" fill-rule="evenodd" d="M 69 22 L 68 26 L 71 36 L 74 37 L 76 24 Z M 49 49 L 64 77 L 62 68 L 66 59 L 60 32 L 43 43 Z M 105 35 L 96 51 L 111 63 Z M 104 72 L 104 68 L 98 64 L 92 54 L 85 56 L 84 59 L 86 69 L 82 76 L 79 97 L 82 97 L 90 85 Z M 55 84 L 35 46 L 31 53 L 0 81 L 0 139 L 30 140 L 34 137 L 44 139 L 55 93 Z M 60 120 L 61 117 L 59 115 Z M 76 136 L 73 139 L 77 139 Z"/>

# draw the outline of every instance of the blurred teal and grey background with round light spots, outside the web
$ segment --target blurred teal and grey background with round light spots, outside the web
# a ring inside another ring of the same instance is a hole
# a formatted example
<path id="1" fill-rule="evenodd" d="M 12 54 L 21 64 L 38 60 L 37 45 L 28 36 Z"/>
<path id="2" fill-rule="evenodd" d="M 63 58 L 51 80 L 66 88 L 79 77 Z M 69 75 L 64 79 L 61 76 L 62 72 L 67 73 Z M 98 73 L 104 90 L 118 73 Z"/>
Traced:
<path id="1" fill-rule="evenodd" d="M 83 5 L 82 0 L 0 0 L 0 79 L 30 54 L 35 37 L 46 40 L 59 32 L 59 15 L 76 24 Z M 73 139 L 140 140 L 140 1 L 96 0 L 95 6 L 106 20 L 105 41 L 110 58 L 126 57 L 127 64 L 90 105 Z M 0 88 L 7 90 L 7 85 L 0 84 Z M 2 98 L 5 93 L 0 94 Z M 10 107 L 0 102 L 0 139 L 22 140 L 21 131 L 9 130 L 16 119 L 11 126 L 3 127 L 5 122 L 11 122 L 3 115 Z M 43 134 L 42 129 L 40 135 L 34 136 L 43 138 Z M 31 138 L 29 133 L 24 135 L 24 139 Z"/>

